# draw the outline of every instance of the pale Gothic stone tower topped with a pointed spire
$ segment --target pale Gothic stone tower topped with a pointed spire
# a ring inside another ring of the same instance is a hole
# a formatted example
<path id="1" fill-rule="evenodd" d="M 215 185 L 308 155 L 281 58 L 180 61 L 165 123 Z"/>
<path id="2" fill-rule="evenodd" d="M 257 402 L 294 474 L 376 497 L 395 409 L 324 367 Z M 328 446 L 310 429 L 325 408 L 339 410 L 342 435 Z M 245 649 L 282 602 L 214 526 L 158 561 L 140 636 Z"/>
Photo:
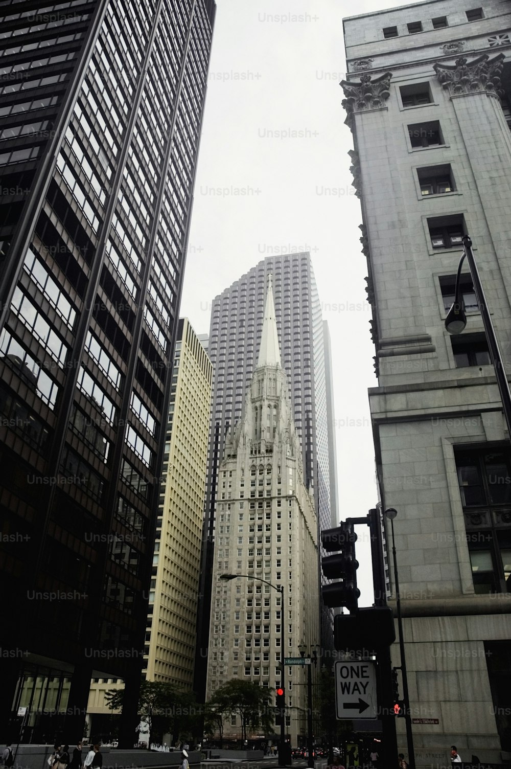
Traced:
<path id="1" fill-rule="evenodd" d="M 250 389 L 218 468 L 216 514 L 208 700 L 231 678 L 278 687 L 282 657 L 297 656 L 302 642 L 309 648 L 319 642 L 317 518 L 280 363 L 271 282 Z M 226 584 L 221 574 L 249 578 Z M 282 599 L 258 578 L 283 586 Z M 307 734 L 307 687 L 299 677 L 287 667 L 291 745 Z M 233 717 L 224 737 L 238 738 L 240 728 Z"/>

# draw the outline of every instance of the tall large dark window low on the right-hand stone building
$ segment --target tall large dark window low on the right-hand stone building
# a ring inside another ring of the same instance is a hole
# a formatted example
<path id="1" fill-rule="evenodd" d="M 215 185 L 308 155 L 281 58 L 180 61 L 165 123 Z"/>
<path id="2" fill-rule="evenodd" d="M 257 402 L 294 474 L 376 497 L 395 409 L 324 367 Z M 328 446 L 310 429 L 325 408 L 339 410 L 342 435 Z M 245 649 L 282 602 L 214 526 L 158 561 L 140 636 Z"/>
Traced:
<path id="1" fill-rule="evenodd" d="M 511 592 L 511 467 L 506 449 L 456 450 L 476 593 Z"/>

